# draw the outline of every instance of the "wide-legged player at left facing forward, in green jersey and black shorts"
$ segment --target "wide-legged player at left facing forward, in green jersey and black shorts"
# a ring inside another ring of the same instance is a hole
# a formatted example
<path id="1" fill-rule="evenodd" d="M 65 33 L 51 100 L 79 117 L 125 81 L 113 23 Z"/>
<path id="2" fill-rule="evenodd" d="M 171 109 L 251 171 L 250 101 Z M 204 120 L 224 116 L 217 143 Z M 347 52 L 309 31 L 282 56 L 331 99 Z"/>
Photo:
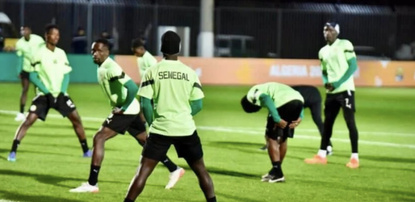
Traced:
<path id="1" fill-rule="evenodd" d="M 33 57 L 33 71 L 29 74 L 30 81 L 37 87 L 37 96 L 32 101 L 26 120 L 17 129 L 7 158 L 9 161 L 16 161 L 17 147 L 27 130 L 38 118 L 45 121 L 51 108 L 71 121 L 81 143 L 84 157 L 90 157 L 92 153 L 88 148 L 81 118 L 66 92 L 72 68 L 69 66 L 65 51 L 56 46 L 59 41 L 59 29 L 56 25 L 46 25 L 45 39 L 46 45 L 42 46 Z"/>

